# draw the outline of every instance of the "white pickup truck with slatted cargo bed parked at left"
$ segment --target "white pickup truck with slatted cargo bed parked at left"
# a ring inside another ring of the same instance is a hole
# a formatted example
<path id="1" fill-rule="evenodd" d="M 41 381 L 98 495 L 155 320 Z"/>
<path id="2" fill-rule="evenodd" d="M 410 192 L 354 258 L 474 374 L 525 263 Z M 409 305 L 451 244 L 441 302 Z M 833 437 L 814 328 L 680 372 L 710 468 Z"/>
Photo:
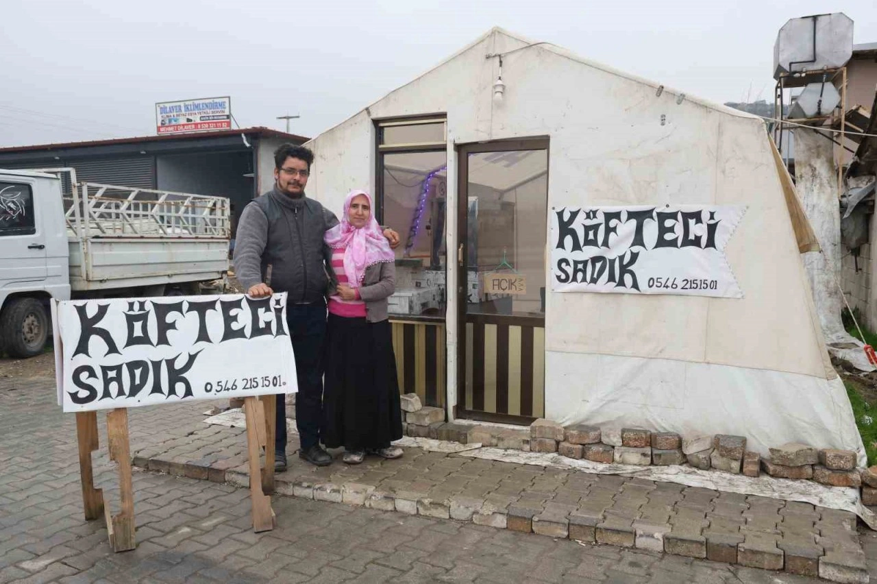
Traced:
<path id="1" fill-rule="evenodd" d="M 0 353 L 43 351 L 50 298 L 199 294 L 228 270 L 230 232 L 222 196 L 0 169 Z"/>

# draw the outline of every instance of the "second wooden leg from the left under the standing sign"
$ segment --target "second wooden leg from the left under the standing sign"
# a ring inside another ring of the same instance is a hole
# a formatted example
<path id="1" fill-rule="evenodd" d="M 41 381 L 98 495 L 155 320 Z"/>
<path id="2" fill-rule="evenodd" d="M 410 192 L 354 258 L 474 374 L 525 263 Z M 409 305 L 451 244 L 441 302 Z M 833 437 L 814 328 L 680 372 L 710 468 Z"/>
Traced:
<path id="1" fill-rule="evenodd" d="M 113 550 L 127 552 L 137 547 L 134 539 L 134 488 L 127 409 L 107 412 L 107 440 L 110 443 L 110 459 L 118 465 L 118 494 L 121 501 L 121 510 L 108 521 L 107 531 Z M 106 515 L 109 518 L 109 513 Z"/>

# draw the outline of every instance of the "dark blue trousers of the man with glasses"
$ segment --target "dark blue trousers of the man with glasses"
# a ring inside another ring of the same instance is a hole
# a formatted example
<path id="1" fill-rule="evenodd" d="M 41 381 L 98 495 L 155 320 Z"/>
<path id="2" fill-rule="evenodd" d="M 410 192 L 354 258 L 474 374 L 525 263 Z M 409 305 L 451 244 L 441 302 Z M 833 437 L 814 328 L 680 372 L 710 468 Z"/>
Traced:
<path id="1" fill-rule="evenodd" d="M 320 443 L 323 424 L 323 341 L 326 332 L 324 303 L 287 304 L 286 322 L 296 353 L 296 427 L 302 451 Z M 286 395 L 277 395 L 275 451 L 286 454 Z"/>

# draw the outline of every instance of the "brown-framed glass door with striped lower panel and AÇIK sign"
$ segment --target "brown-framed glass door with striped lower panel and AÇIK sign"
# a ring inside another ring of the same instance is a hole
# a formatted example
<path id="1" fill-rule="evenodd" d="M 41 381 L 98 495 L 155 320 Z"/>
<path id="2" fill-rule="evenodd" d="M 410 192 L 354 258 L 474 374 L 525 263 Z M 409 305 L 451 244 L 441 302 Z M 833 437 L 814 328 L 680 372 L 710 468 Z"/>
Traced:
<path id="1" fill-rule="evenodd" d="M 460 147 L 457 417 L 545 414 L 548 140 Z"/>

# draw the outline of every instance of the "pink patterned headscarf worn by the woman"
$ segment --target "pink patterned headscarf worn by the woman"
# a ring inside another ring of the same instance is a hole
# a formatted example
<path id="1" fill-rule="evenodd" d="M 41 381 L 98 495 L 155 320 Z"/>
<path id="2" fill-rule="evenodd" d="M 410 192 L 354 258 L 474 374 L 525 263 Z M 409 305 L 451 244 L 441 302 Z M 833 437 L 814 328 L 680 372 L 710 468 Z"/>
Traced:
<path id="1" fill-rule="evenodd" d="M 368 199 L 371 214 L 368 223 L 357 229 L 347 219 L 353 198 L 364 195 Z M 351 288 L 359 288 L 366 275 L 366 268 L 381 262 L 395 261 L 396 255 L 383 236 L 381 227 L 374 219 L 372 197 L 364 190 L 352 190 L 344 200 L 344 214 L 341 223 L 325 232 L 324 240 L 333 249 L 344 248 L 344 273 Z"/>

